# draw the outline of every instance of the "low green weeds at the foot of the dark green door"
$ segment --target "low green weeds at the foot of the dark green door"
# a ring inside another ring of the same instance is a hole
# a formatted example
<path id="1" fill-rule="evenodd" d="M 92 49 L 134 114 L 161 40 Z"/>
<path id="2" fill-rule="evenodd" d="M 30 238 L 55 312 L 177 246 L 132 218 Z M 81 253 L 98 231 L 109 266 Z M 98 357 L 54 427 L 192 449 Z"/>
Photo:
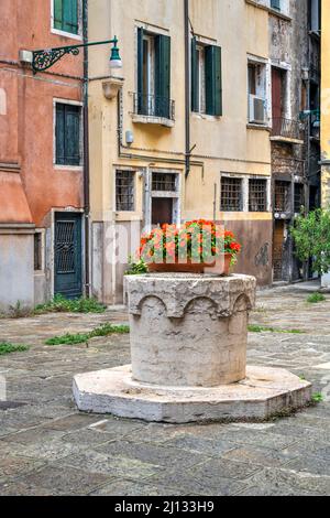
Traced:
<path id="1" fill-rule="evenodd" d="M 107 306 L 100 304 L 96 299 L 68 300 L 63 295 L 55 295 L 46 304 L 35 307 L 35 314 L 43 313 L 105 313 Z"/>

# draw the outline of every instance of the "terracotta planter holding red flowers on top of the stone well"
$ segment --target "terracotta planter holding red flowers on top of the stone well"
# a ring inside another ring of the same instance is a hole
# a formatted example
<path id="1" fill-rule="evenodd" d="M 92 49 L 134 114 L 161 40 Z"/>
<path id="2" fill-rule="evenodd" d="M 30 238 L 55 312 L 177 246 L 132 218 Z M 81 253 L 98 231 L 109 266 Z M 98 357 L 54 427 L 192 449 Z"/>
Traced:
<path id="1" fill-rule="evenodd" d="M 186 263 L 179 263 L 177 261 L 156 265 L 155 262 L 151 262 L 147 268 L 150 273 L 215 273 L 218 276 L 229 276 L 231 258 L 231 253 L 224 253 L 224 260 L 218 258 L 216 261 L 209 263 L 194 263 L 191 260 L 188 260 Z"/>

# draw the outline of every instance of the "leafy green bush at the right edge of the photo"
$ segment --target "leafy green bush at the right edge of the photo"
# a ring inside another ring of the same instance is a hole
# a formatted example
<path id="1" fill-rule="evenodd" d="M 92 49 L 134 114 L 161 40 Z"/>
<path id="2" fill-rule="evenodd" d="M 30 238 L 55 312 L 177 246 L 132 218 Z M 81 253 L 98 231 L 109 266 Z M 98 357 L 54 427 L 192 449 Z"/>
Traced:
<path id="1" fill-rule="evenodd" d="M 330 211 L 318 208 L 307 216 L 300 215 L 292 227 L 296 256 L 307 262 L 311 258 L 312 270 L 319 274 L 330 271 Z"/>

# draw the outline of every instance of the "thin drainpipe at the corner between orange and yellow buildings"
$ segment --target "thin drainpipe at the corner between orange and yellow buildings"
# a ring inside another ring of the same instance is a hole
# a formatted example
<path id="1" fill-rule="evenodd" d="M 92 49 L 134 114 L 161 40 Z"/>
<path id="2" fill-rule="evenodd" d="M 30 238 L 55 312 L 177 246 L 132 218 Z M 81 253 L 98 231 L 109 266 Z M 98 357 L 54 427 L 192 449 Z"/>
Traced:
<path id="1" fill-rule="evenodd" d="M 88 0 L 82 0 L 82 37 L 88 43 Z M 84 214 L 85 214 L 85 294 L 90 296 L 90 247 L 89 247 L 89 125 L 88 125 L 88 47 L 84 47 Z"/>

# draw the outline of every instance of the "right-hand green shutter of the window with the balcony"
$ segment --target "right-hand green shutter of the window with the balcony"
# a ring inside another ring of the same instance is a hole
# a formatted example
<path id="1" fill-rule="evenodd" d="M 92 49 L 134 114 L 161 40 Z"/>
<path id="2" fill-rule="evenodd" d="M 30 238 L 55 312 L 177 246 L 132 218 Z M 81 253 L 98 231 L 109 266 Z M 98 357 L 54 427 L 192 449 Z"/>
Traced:
<path id="1" fill-rule="evenodd" d="M 155 37 L 155 116 L 170 118 L 170 37 Z"/>

